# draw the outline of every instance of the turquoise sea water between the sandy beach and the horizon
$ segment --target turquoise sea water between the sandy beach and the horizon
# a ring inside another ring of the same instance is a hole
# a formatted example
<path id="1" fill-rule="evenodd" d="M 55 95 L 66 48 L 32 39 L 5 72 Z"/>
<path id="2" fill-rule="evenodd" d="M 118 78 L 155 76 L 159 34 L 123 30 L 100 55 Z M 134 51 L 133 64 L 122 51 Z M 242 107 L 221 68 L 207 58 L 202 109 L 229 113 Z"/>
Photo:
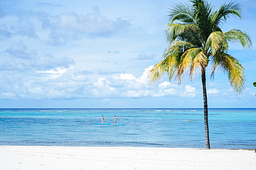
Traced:
<path id="1" fill-rule="evenodd" d="M 210 109 L 209 127 L 212 148 L 256 148 L 256 109 Z M 0 129 L 0 145 L 205 145 L 203 109 L 0 109 Z"/>

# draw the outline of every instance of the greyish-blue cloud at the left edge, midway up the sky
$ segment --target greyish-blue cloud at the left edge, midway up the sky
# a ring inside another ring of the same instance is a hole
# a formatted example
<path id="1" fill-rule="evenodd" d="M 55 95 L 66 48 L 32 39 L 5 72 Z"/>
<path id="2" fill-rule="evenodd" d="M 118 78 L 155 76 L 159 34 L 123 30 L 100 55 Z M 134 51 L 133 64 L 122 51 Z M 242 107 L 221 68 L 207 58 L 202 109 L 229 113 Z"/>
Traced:
<path id="1" fill-rule="evenodd" d="M 7 54 L 6 54 L 7 52 Z M 6 59 L 0 62 L 0 70 L 5 72 L 52 72 L 65 70 L 75 65 L 71 57 L 55 57 L 51 54 L 37 54 L 28 50 L 27 45 L 20 41 L 12 43 L 8 50 L 0 52 Z"/>

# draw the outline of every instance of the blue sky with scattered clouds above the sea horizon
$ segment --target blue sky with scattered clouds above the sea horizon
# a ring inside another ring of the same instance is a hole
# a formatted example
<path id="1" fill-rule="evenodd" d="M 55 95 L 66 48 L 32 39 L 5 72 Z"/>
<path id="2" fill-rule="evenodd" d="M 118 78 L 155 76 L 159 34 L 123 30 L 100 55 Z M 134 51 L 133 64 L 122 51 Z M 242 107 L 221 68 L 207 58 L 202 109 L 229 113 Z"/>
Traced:
<path id="1" fill-rule="evenodd" d="M 187 0 L 1 0 L 0 108 L 202 108 L 200 74 L 181 84 L 167 77 L 148 85 L 147 72 L 167 47 L 168 12 Z M 215 8 L 225 2 L 212 1 Z M 245 68 L 236 94 L 227 74 L 207 72 L 208 107 L 256 107 L 256 1 L 237 1 L 242 19 L 224 32 L 250 34 L 253 47 L 233 43 Z"/>

